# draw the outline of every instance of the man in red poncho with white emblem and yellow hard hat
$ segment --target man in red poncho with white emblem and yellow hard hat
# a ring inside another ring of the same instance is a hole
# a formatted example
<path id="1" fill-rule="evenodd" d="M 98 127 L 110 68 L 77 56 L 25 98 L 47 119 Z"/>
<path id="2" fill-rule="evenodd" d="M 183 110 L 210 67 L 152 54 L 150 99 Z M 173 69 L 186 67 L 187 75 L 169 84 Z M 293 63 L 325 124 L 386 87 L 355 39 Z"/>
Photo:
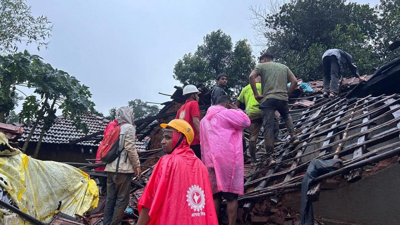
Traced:
<path id="1" fill-rule="evenodd" d="M 192 127 L 182 119 L 161 127 L 161 145 L 168 155 L 154 166 L 138 200 L 137 225 L 217 225 L 207 169 L 189 147 Z"/>

